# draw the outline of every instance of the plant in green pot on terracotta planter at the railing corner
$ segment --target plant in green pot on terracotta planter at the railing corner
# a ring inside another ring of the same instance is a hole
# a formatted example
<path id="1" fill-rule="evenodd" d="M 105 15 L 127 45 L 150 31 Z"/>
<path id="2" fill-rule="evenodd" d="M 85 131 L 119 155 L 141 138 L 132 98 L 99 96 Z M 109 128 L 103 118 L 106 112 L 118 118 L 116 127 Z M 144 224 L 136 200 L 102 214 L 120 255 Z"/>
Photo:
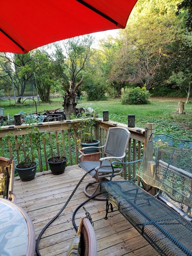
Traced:
<path id="1" fill-rule="evenodd" d="M 100 141 L 93 139 L 94 126 L 95 118 L 87 118 L 77 124 L 77 143 L 79 150 L 82 150 L 83 147 L 93 147 L 84 149 L 85 154 L 98 151 L 98 149 L 94 147 L 98 147 Z"/>

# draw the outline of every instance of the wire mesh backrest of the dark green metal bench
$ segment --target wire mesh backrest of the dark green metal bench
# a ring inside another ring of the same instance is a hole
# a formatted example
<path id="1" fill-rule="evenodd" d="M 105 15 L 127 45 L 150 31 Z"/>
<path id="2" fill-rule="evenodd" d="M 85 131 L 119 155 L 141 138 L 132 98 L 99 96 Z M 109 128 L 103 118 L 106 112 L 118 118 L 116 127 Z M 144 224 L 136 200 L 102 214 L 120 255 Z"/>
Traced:
<path id="1" fill-rule="evenodd" d="M 152 134 L 137 175 L 192 208 L 192 141 Z"/>

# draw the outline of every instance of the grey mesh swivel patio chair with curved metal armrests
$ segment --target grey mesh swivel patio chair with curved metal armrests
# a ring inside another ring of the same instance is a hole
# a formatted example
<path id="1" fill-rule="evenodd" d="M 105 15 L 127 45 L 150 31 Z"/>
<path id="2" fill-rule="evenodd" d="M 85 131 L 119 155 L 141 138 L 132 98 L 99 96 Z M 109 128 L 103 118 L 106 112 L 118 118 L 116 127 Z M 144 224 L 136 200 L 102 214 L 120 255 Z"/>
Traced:
<path id="1" fill-rule="evenodd" d="M 116 159 L 116 161 L 119 162 L 124 160 L 130 135 L 131 133 L 126 128 L 109 128 L 106 143 L 104 145 L 104 157 L 100 158 L 99 161 L 83 161 L 79 164 L 79 167 L 84 169 L 86 172 L 91 170 L 89 174 L 95 179 L 95 181 L 88 183 L 84 188 L 84 192 L 88 197 L 91 197 L 95 194 L 98 187 L 100 186 L 101 181 L 104 181 L 107 177 L 110 177 L 113 171 L 113 176 L 119 175 L 123 172 L 124 169 L 121 164 L 119 167 L 112 167 L 110 160 Z M 87 192 L 87 188 L 95 182 L 98 184 L 95 190 L 89 194 Z M 102 197 L 95 197 L 95 199 L 106 200 Z"/>

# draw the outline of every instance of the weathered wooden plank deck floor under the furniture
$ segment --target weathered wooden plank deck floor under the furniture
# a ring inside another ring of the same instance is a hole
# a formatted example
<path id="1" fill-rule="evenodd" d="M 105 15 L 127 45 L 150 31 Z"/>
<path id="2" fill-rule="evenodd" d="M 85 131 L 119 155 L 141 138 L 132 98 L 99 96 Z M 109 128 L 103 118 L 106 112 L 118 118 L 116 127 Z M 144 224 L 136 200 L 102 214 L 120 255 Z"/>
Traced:
<path id="1" fill-rule="evenodd" d="M 84 173 L 78 165 L 73 165 L 66 167 L 65 172 L 58 176 L 46 171 L 36 173 L 35 179 L 30 182 L 22 182 L 18 177 L 15 178 L 16 203 L 29 214 L 35 228 L 36 239 L 44 226 L 63 207 Z M 76 235 L 72 223 L 73 211 L 87 200 L 83 188 L 92 180 L 90 175 L 85 177 L 64 211 L 43 233 L 39 243 L 42 256 L 66 254 L 70 242 Z M 91 200 L 85 204 L 85 208 L 91 213 L 94 222 L 98 256 L 159 255 L 118 211 L 105 220 L 105 201 Z M 84 210 L 81 208 L 76 214 L 77 226 L 83 213 Z"/>

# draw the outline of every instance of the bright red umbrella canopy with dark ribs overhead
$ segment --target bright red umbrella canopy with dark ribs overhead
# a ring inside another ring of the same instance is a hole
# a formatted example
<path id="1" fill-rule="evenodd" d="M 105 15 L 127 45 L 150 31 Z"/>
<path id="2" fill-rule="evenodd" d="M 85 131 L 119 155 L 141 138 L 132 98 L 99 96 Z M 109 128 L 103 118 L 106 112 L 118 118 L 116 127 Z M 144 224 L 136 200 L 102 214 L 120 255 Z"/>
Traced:
<path id="1" fill-rule="evenodd" d="M 78 35 L 125 28 L 137 0 L 1 1 L 0 52 L 27 53 Z"/>

